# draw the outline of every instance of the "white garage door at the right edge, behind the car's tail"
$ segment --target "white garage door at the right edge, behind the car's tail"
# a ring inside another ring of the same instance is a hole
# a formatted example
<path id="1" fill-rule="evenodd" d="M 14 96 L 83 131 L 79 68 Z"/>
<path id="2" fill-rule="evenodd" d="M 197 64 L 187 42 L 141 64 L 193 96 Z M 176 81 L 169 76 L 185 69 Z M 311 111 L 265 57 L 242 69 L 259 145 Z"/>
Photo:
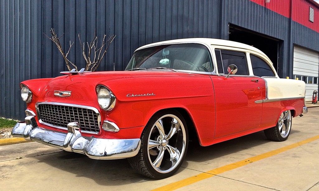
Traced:
<path id="1" fill-rule="evenodd" d="M 319 53 L 299 46 L 293 47 L 293 77 L 306 83 L 306 102 L 318 90 Z"/>

